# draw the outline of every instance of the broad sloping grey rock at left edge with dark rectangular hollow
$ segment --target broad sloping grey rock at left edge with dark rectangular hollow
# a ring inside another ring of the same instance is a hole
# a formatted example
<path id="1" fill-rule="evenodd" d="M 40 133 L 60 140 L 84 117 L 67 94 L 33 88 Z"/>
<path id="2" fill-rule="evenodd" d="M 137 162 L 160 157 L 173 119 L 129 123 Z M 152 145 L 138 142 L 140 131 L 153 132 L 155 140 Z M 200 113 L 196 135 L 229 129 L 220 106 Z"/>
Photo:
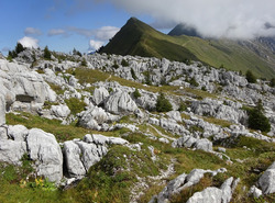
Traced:
<path id="1" fill-rule="evenodd" d="M 0 93 L 4 95 L 8 108 L 15 101 L 30 105 L 30 103 L 43 104 L 46 100 L 52 102 L 56 100 L 56 93 L 42 76 L 25 65 L 0 59 Z M 19 103 L 16 108 L 18 105 Z"/>

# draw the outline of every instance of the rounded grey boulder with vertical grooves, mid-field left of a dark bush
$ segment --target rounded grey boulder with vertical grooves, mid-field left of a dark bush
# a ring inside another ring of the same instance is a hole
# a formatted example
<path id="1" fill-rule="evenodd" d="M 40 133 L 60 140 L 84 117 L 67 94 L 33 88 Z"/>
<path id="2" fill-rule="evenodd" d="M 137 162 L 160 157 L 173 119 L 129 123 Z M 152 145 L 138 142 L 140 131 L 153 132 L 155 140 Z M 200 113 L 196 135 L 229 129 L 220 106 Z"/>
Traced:
<path id="1" fill-rule="evenodd" d="M 117 91 L 106 100 L 105 109 L 114 114 L 128 114 L 138 110 L 138 106 L 128 92 Z"/>

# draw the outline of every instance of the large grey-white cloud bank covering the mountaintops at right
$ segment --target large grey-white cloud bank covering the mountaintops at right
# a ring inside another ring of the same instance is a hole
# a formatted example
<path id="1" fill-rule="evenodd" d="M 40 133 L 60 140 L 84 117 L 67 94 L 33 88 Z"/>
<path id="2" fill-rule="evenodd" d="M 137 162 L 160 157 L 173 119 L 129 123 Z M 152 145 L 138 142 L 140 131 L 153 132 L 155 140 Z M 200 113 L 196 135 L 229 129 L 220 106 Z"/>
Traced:
<path id="1" fill-rule="evenodd" d="M 81 0 L 81 3 L 84 1 Z M 106 1 L 132 15 L 147 14 L 158 26 L 186 23 L 208 37 L 253 38 L 275 35 L 274 0 Z"/>

